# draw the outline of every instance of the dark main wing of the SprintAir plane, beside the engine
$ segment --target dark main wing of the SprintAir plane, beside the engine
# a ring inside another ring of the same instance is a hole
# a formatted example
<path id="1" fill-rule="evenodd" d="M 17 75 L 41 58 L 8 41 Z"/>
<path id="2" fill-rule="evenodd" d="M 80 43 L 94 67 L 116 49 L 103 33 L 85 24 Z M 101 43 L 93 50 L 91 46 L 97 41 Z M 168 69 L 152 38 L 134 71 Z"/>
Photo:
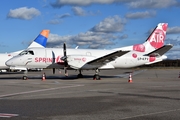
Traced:
<path id="1" fill-rule="evenodd" d="M 105 55 L 105 56 L 102 56 L 102 57 L 99 57 L 97 59 L 94 59 L 92 61 L 89 61 L 87 62 L 86 64 L 89 64 L 89 65 L 104 65 L 108 62 L 111 62 L 113 60 L 115 60 L 116 58 L 128 53 L 129 51 L 122 51 L 122 50 L 119 50 L 119 51 L 115 51 L 113 53 L 110 53 L 108 55 Z"/>

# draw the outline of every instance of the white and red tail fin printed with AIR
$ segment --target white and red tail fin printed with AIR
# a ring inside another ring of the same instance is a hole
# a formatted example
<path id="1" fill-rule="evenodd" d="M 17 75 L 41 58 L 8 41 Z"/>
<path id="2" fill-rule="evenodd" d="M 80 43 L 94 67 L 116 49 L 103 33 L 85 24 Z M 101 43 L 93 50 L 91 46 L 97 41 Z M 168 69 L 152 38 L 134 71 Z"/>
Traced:
<path id="1" fill-rule="evenodd" d="M 133 50 L 139 52 L 151 52 L 162 47 L 166 38 L 167 27 L 167 23 L 159 23 L 147 38 L 146 42 L 144 44 L 134 45 Z"/>

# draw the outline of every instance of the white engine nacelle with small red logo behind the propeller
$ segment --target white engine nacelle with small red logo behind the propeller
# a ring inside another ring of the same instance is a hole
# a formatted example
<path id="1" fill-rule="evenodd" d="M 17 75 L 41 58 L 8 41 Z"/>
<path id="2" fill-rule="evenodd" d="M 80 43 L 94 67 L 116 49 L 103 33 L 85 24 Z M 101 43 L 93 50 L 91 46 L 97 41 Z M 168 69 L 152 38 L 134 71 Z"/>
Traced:
<path id="1" fill-rule="evenodd" d="M 94 60 L 94 56 L 87 55 L 69 55 L 67 56 L 68 65 L 74 69 L 90 69 L 94 68 L 93 65 L 87 65 L 86 63 Z"/>

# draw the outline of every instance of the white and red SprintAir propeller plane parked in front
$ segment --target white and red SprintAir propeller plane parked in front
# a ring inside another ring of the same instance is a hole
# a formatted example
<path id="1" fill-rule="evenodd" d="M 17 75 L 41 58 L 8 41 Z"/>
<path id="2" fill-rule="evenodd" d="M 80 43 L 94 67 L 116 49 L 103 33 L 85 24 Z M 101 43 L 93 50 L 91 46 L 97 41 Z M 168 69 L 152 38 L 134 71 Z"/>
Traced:
<path id="1" fill-rule="evenodd" d="M 116 48 L 99 49 L 66 49 L 63 48 L 28 48 L 6 62 L 9 67 L 52 68 L 79 70 L 95 70 L 93 79 L 100 79 L 100 69 L 133 68 L 149 65 L 167 58 L 164 55 L 173 45 L 164 45 L 167 23 L 159 23 L 143 44 Z"/>

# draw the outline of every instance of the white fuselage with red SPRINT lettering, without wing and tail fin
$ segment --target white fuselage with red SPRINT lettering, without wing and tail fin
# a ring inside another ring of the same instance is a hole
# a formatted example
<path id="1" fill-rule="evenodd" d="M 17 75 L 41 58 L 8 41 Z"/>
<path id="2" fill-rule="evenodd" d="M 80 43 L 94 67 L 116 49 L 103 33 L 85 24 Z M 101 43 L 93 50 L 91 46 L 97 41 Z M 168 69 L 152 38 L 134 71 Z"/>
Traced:
<path id="1" fill-rule="evenodd" d="M 63 49 L 61 48 L 29 48 L 33 54 L 18 55 L 13 60 L 8 60 L 6 64 L 13 67 L 21 68 L 64 68 Z M 115 50 L 95 50 L 95 49 L 67 49 L 68 65 L 74 69 L 116 69 L 116 68 L 132 68 L 140 65 L 151 64 L 162 61 L 166 56 L 149 57 L 144 56 L 144 52 L 130 51 L 121 57 L 117 57 L 113 61 L 107 61 L 103 65 L 86 64 L 93 59 L 108 55 Z"/>

